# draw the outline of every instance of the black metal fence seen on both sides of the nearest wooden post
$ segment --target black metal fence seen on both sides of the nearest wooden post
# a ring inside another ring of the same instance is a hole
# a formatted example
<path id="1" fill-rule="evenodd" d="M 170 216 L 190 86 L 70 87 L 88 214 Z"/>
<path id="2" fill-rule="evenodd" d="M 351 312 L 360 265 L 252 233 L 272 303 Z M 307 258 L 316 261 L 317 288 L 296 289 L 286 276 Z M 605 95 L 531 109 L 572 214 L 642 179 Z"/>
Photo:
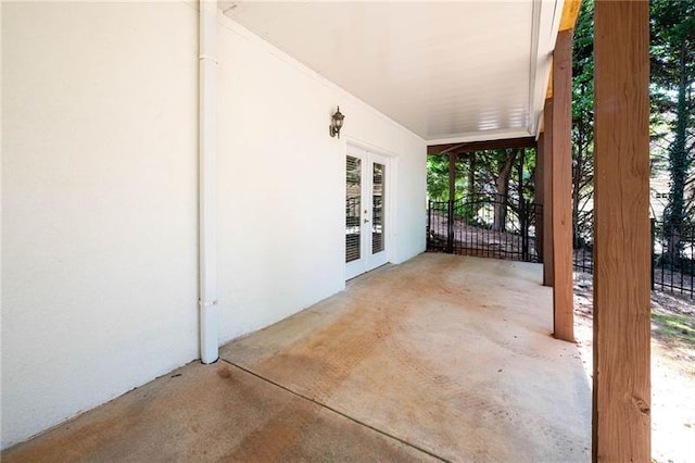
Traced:
<path id="1" fill-rule="evenodd" d="M 574 270 L 593 273 L 593 242 L 574 243 Z M 695 227 L 678 233 L 652 220 L 652 289 L 695 298 Z"/>

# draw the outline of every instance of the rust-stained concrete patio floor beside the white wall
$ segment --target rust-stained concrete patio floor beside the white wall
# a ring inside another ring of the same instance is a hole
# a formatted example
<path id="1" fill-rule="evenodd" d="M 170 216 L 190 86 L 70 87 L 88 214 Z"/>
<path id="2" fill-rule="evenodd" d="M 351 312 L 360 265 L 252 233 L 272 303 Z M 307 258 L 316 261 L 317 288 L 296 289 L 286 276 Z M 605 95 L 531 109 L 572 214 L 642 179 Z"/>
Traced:
<path id="1" fill-rule="evenodd" d="M 2 460 L 590 461 L 589 379 L 540 280 L 421 254 Z"/>

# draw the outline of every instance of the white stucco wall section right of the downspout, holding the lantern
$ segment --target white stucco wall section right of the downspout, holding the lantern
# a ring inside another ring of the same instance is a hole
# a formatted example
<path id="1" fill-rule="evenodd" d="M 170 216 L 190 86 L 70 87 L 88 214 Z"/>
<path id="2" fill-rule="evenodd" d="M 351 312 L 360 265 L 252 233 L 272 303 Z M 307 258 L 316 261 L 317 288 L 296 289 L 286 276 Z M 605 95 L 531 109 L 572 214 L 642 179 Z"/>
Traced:
<path id="1" fill-rule="evenodd" d="M 393 155 L 392 262 L 425 250 L 426 143 L 220 16 L 220 340 L 344 288 L 349 139 Z M 341 138 L 328 134 L 336 105 Z"/>

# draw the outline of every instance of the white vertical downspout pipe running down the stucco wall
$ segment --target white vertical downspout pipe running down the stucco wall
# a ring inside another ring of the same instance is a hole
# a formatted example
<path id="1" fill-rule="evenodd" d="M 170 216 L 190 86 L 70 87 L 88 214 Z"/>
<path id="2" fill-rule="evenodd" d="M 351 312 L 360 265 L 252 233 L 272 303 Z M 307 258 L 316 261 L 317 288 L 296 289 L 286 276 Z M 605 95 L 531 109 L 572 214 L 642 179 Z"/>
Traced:
<path id="1" fill-rule="evenodd" d="M 216 72 L 217 0 L 200 0 L 199 55 L 199 300 L 200 358 L 219 356 L 217 337 Z"/>

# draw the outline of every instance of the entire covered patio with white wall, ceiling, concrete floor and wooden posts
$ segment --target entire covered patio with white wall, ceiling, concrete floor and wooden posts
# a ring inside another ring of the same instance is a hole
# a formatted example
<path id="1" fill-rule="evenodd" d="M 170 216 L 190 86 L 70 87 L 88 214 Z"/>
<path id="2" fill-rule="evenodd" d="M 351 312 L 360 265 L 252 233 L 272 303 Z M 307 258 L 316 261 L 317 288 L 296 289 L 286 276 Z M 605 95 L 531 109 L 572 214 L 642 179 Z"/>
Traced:
<path id="1" fill-rule="evenodd" d="M 648 3 L 595 4 L 592 379 L 578 8 L 2 4 L 2 458 L 648 461 Z M 514 139 L 544 267 L 421 254 L 428 152 Z"/>

